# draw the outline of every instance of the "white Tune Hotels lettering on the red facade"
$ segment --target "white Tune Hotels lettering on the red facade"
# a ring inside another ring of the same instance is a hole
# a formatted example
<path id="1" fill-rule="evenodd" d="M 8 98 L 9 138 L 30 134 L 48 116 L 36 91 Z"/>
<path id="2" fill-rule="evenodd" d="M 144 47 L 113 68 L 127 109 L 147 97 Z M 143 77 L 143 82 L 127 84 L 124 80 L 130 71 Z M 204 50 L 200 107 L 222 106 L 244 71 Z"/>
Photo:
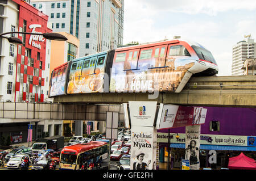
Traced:
<path id="1" fill-rule="evenodd" d="M 41 24 L 30 24 L 29 28 L 31 29 L 31 33 L 42 33 L 36 31 L 36 28 L 41 28 Z M 32 47 L 41 49 L 40 42 L 43 42 L 44 40 L 43 35 L 30 35 L 28 44 L 30 44 Z"/>

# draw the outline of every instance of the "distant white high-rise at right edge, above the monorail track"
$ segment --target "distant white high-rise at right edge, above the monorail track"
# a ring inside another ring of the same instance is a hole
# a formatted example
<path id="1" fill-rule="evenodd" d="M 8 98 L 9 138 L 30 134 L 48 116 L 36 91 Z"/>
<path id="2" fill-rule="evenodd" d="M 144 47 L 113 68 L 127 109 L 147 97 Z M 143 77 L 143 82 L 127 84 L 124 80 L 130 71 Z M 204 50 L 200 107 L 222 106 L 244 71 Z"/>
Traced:
<path id="1" fill-rule="evenodd" d="M 245 36 L 245 40 L 239 41 L 233 46 L 232 75 L 245 75 L 242 70 L 246 58 L 256 58 L 256 46 L 251 35 Z"/>

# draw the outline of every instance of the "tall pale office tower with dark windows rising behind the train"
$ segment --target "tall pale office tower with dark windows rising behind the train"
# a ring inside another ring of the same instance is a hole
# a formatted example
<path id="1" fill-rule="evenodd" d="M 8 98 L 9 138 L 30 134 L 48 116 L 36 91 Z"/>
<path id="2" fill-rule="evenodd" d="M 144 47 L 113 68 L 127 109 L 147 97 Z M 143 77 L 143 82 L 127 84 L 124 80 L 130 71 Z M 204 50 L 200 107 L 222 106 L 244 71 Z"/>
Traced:
<path id="1" fill-rule="evenodd" d="M 124 0 L 31 0 L 49 16 L 54 32 L 80 40 L 80 57 L 115 49 L 123 42 Z"/>

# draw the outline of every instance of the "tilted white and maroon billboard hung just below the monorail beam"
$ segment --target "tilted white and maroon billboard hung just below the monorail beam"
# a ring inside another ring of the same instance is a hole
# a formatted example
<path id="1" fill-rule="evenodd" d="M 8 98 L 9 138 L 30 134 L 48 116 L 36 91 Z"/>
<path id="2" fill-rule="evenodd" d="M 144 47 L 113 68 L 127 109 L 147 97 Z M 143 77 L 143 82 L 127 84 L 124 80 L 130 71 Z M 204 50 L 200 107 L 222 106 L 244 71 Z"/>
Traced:
<path id="1" fill-rule="evenodd" d="M 207 109 L 203 107 L 160 104 L 156 129 L 185 127 L 204 124 Z"/>

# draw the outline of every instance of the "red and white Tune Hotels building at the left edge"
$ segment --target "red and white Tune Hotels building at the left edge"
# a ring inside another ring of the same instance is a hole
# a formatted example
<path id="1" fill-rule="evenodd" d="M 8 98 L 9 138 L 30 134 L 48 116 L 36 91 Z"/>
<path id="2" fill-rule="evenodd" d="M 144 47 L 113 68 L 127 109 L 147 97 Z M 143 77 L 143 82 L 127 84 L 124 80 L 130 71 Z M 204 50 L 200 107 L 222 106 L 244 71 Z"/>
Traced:
<path id="1" fill-rule="evenodd" d="M 47 26 L 48 16 L 27 1 L 1 1 L 0 31 L 52 32 Z M 0 39 L 0 100 L 10 102 L 44 102 L 49 87 L 51 40 L 43 36 L 22 33 L 7 34 L 18 37 L 23 44 Z"/>

